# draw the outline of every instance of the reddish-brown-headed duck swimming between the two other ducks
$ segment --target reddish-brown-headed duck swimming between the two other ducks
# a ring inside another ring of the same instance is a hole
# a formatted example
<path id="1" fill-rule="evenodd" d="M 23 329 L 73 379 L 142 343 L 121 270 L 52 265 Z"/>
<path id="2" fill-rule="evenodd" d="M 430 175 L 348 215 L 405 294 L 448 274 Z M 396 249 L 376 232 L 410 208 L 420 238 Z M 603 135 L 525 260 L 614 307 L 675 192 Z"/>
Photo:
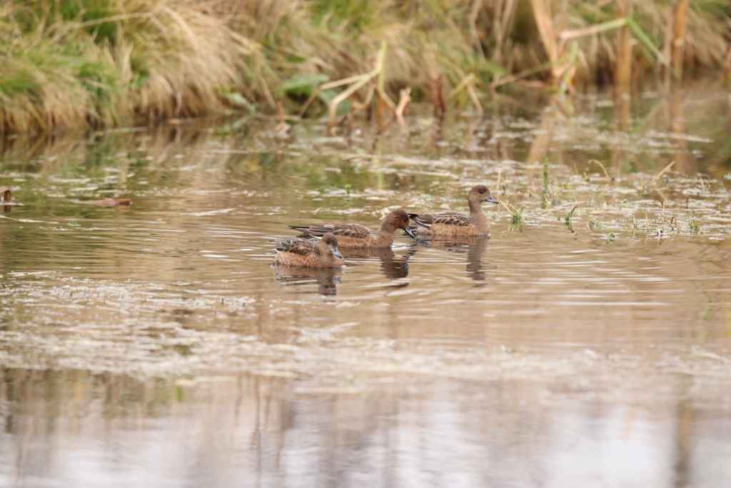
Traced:
<path id="1" fill-rule="evenodd" d="M 377 231 L 360 224 L 289 225 L 289 228 L 310 237 L 330 233 L 336 236 L 338 246 L 343 248 L 391 247 L 393 233 L 398 229 L 403 229 L 406 235 L 416 239 L 414 230 L 409 226 L 409 214 L 404 209 L 390 211 Z"/>

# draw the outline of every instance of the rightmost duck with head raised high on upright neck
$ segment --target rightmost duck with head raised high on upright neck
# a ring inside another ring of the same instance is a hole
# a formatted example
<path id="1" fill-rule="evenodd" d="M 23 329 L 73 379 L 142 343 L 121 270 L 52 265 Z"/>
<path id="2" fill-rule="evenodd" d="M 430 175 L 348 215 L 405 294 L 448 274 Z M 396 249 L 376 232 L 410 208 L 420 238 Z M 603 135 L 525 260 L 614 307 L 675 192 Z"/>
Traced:
<path id="1" fill-rule="evenodd" d="M 415 232 L 419 236 L 488 236 L 490 221 L 482 210 L 482 202 L 499 203 L 488 187 L 478 184 L 467 194 L 469 215 L 444 211 L 438 214 L 409 214 L 409 218 L 416 223 Z"/>

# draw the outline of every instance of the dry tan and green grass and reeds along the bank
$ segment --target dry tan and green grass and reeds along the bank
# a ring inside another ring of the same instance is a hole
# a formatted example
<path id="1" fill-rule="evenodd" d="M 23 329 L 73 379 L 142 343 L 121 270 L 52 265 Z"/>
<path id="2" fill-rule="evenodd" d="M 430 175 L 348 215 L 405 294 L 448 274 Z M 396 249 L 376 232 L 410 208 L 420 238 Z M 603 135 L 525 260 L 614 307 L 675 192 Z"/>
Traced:
<path id="1" fill-rule="evenodd" d="M 726 0 L 9 0 L 0 135 L 731 78 Z"/>

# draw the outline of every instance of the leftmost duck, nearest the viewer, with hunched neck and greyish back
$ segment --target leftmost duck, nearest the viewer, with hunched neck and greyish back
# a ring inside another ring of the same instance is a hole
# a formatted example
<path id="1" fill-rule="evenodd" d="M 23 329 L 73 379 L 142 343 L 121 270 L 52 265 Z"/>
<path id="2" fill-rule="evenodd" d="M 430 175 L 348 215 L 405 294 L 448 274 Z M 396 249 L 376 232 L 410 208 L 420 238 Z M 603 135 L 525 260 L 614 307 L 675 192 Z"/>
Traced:
<path id="1" fill-rule="evenodd" d="M 274 248 L 275 262 L 284 266 L 338 268 L 345 263 L 338 247 L 338 239 L 332 233 L 325 233 L 321 239 L 277 239 Z"/>

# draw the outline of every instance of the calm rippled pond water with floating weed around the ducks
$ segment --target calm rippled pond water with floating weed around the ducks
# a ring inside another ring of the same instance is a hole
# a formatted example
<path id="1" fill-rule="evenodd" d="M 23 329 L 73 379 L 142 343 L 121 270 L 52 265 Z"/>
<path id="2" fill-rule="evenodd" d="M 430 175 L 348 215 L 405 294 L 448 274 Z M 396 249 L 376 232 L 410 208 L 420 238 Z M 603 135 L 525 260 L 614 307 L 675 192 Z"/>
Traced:
<path id="1" fill-rule="evenodd" d="M 729 486 L 730 113 L 704 86 L 8 141 L 0 486 Z M 287 224 L 477 183 L 520 222 L 271 265 Z"/>

